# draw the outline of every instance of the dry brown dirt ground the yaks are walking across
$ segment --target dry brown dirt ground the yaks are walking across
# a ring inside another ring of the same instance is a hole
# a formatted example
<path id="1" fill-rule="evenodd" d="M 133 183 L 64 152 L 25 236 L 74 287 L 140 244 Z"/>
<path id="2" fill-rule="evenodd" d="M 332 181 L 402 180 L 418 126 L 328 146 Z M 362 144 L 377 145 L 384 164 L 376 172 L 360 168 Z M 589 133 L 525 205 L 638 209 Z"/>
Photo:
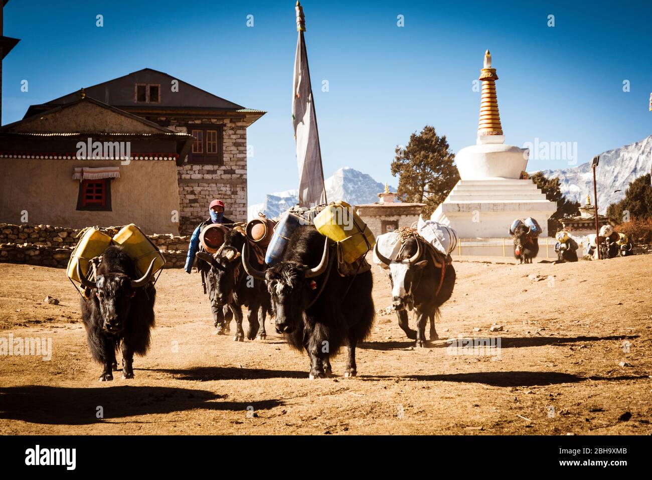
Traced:
<path id="1" fill-rule="evenodd" d="M 652 256 L 482 260 L 454 262 L 441 340 L 415 349 L 395 314 L 377 314 L 359 376 L 344 378 L 340 354 L 321 380 L 269 320 L 267 340 L 214 335 L 199 275 L 166 270 L 151 351 L 134 380 L 104 383 L 65 271 L 1 263 L 0 338 L 52 338 L 52 359 L 0 356 L 0 434 L 650 434 Z M 500 348 L 454 352 L 460 335 Z"/>

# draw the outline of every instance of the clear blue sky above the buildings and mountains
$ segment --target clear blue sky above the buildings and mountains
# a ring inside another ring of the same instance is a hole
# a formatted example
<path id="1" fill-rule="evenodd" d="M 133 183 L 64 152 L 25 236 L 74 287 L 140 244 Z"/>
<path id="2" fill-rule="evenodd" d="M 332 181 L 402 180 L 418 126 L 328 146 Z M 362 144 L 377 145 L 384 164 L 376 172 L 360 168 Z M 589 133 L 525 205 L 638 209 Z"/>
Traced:
<path id="1" fill-rule="evenodd" d="M 475 143 L 480 93 L 472 82 L 486 48 L 500 77 L 506 143 L 576 142 L 579 164 L 652 134 L 652 1 L 302 5 L 326 176 L 350 166 L 398 185 L 394 147 L 424 125 L 445 134 L 454 152 Z M 95 26 L 97 14 L 104 27 Z M 155 68 L 269 112 L 248 129 L 250 203 L 297 187 L 293 1 L 12 0 L 5 35 L 21 42 L 3 64 L 3 124 L 30 104 Z M 528 170 L 568 166 L 530 160 Z"/>

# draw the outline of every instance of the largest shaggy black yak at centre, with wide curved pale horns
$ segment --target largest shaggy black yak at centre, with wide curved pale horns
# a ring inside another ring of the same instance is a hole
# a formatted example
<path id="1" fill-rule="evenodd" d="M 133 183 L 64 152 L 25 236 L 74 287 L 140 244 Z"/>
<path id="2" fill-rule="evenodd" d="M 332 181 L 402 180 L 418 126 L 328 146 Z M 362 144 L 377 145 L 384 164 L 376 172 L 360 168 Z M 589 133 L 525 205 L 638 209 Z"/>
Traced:
<path id="1" fill-rule="evenodd" d="M 265 272 L 252 266 L 248 254 L 245 249 L 243 265 L 253 277 L 265 278 L 276 331 L 293 348 L 308 352 L 309 378 L 329 376 L 331 355 L 345 344 L 344 376 L 355 376 L 355 347 L 374 323 L 371 271 L 340 276 L 333 267 L 334 247 L 312 225 L 299 226 L 289 237 L 280 262 Z"/>

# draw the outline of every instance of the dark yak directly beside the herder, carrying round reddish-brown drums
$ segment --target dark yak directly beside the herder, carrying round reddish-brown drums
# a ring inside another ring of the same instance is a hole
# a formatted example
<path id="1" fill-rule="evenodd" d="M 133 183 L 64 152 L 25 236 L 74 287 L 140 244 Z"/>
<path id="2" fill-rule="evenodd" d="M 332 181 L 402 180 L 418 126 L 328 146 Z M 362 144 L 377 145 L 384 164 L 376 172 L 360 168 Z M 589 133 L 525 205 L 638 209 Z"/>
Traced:
<path id="1" fill-rule="evenodd" d="M 244 341 L 242 307 L 248 308 L 247 320 L 249 329 L 246 337 L 254 340 L 267 338 L 265 317 L 271 312 L 271 303 L 267 286 L 263 280 L 249 277 L 241 268 L 241 254 L 246 245 L 246 237 L 238 229 L 226 232 L 224 245 L 215 255 L 208 252 L 197 252 L 197 257 L 203 260 L 209 268 L 205 272 L 211 292 L 211 308 L 216 310 L 226 305 L 233 312 L 237 329 L 233 340 Z M 255 258 L 250 260 L 257 268 L 263 265 Z"/>

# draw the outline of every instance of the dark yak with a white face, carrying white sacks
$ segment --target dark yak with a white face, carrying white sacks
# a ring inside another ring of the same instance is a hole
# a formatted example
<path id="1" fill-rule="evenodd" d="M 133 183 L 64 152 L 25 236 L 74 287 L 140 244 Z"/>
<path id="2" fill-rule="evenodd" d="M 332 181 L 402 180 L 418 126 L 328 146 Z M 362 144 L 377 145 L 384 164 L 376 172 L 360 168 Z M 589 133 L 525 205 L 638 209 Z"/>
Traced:
<path id="1" fill-rule="evenodd" d="M 447 257 L 430 252 L 430 246 L 417 237 L 404 239 L 396 260 L 386 258 L 374 247 L 374 255 L 389 267 L 392 284 L 392 307 L 398 316 L 398 326 L 416 340 L 417 347 L 426 346 L 426 323 L 430 319 L 430 340 L 436 340 L 435 318 L 439 307 L 451 298 L 455 286 L 455 269 L 447 264 Z M 408 325 L 406 308 L 417 310 L 417 331 Z"/>

